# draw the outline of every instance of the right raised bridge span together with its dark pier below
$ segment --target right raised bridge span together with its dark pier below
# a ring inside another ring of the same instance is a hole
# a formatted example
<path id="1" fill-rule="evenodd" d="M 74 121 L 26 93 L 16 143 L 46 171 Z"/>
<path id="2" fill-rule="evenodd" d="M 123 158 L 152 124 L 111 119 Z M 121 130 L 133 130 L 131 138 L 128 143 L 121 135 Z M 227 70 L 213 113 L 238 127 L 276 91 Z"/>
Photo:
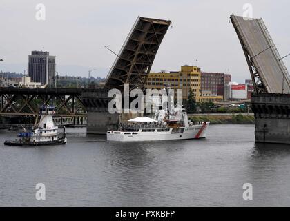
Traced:
<path id="1" fill-rule="evenodd" d="M 255 142 L 290 144 L 290 84 L 284 66 L 262 19 L 231 15 L 247 59 L 255 93 Z"/>

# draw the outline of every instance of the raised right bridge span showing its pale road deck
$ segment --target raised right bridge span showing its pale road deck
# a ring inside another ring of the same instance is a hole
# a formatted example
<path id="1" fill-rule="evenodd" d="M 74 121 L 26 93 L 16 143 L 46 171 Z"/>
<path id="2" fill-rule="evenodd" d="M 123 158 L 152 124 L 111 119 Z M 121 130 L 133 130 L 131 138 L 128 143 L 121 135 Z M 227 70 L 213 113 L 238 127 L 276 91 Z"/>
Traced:
<path id="1" fill-rule="evenodd" d="M 289 73 L 263 19 L 231 15 L 255 93 L 290 93 Z"/>

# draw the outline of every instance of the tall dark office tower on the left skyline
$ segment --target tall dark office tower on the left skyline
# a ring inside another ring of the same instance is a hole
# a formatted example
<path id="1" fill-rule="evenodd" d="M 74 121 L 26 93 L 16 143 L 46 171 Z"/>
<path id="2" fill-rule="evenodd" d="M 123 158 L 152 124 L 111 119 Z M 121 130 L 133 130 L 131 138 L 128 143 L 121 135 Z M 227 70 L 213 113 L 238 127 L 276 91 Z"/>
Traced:
<path id="1" fill-rule="evenodd" d="M 55 56 L 47 51 L 32 51 L 28 57 L 28 76 L 32 82 L 55 86 Z"/>

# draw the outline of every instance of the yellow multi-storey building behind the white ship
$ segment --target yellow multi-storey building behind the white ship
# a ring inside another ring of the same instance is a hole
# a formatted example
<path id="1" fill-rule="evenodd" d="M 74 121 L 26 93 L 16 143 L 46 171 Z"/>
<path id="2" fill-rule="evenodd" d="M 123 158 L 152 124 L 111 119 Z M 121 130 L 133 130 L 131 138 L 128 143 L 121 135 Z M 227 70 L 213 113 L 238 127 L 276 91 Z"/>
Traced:
<path id="1" fill-rule="evenodd" d="M 187 99 L 190 88 L 193 90 L 197 102 L 222 100 L 222 96 L 202 96 L 200 68 L 197 66 L 182 66 L 180 71 L 166 73 L 150 73 L 147 78 L 146 88 L 160 90 L 168 86 L 172 89 L 182 89 L 182 98 Z M 218 100 L 217 100 L 218 99 Z"/>

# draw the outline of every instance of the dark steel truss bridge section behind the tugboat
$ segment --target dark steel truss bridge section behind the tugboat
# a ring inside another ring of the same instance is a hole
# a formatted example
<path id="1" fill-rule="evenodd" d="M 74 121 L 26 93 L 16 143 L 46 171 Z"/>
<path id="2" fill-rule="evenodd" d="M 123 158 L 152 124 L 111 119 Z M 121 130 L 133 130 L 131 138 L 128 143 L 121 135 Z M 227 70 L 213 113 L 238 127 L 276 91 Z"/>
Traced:
<path id="1" fill-rule="evenodd" d="M 86 116 L 82 93 L 97 89 L 0 88 L 0 115 L 37 115 L 41 104 L 56 106 L 56 117 Z"/>

